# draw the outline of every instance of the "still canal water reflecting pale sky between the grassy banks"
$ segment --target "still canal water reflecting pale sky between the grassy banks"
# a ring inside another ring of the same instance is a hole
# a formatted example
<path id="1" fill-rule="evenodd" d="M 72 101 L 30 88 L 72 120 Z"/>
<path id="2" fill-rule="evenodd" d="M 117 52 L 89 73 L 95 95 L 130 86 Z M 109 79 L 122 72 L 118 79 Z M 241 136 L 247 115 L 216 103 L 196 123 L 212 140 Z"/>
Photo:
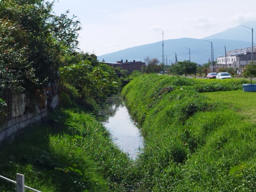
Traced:
<path id="1" fill-rule="evenodd" d="M 104 126 L 111 132 L 114 142 L 134 160 L 139 153 L 139 148 L 143 147 L 143 138 L 124 106 L 122 98 L 109 97 L 104 113 L 108 116 Z"/>

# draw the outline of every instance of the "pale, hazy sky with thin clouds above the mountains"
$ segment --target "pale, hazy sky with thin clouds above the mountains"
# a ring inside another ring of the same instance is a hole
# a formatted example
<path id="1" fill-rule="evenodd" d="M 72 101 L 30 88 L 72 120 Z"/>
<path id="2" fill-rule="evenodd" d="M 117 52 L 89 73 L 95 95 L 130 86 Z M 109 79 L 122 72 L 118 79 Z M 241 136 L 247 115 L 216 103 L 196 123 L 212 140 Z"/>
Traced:
<path id="1" fill-rule="evenodd" d="M 255 0 L 59 0 L 53 11 L 74 14 L 83 28 L 80 50 L 100 56 L 163 39 L 201 39 L 256 22 L 255 7 Z"/>

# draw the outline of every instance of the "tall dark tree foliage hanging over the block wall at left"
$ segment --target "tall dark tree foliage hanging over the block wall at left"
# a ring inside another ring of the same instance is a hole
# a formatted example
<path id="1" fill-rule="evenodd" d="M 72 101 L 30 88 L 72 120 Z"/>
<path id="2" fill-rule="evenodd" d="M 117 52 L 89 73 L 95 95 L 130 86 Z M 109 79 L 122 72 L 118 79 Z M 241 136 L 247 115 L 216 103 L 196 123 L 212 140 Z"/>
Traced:
<path id="1" fill-rule="evenodd" d="M 77 50 L 81 29 L 76 17 L 52 13 L 54 1 L 0 0 L 0 98 L 49 87 L 59 78 L 63 58 Z M 1 105 L 1 103 L 0 103 Z M 0 112 L 1 112 L 0 106 Z"/>

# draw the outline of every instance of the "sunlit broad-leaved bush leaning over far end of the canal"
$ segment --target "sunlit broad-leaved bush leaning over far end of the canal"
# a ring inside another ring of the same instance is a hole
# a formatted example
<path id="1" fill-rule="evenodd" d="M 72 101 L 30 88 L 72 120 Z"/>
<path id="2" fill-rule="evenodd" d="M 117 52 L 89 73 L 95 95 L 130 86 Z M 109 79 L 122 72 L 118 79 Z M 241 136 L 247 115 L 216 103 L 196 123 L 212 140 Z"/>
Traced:
<path id="1" fill-rule="evenodd" d="M 104 102 L 109 94 L 117 93 L 121 87 L 113 68 L 100 62 L 92 66 L 89 60 L 82 60 L 60 68 L 60 75 L 64 83 L 78 90 L 82 100 L 92 98 L 96 102 Z"/>

